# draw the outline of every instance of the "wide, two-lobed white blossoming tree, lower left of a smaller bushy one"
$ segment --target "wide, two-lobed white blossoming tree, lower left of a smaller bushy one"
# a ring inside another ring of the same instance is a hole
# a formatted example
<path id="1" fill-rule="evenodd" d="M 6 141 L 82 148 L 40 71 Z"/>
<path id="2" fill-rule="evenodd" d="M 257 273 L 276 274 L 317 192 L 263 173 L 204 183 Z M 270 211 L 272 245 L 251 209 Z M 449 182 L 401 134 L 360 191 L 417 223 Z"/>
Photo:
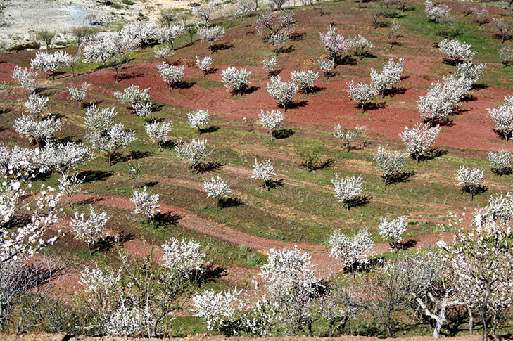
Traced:
<path id="1" fill-rule="evenodd" d="M 366 229 L 360 229 L 353 237 L 347 236 L 341 230 L 334 230 L 329 236 L 328 246 L 329 256 L 345 268 L 355 263 L 367 264 L 369 257 L 376 254 L 374 240 Z"/>

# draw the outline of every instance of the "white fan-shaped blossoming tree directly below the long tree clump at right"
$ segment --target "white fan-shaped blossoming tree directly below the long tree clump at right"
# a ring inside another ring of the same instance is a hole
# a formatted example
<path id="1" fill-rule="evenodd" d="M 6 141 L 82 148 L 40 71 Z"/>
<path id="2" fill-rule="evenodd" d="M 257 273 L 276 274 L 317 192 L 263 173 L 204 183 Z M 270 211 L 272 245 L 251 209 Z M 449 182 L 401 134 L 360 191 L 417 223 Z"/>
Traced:
<path id="1" fill-rule="evenodd" d="M 408 153 L 419 162 L 420 157 L 426 156 L 433 147 L 438 134 L 440 126 L 431 127 L 429 124 L 417 123 L 412 129 L 405 127 L 399 136 L 405 143 Z"/>

